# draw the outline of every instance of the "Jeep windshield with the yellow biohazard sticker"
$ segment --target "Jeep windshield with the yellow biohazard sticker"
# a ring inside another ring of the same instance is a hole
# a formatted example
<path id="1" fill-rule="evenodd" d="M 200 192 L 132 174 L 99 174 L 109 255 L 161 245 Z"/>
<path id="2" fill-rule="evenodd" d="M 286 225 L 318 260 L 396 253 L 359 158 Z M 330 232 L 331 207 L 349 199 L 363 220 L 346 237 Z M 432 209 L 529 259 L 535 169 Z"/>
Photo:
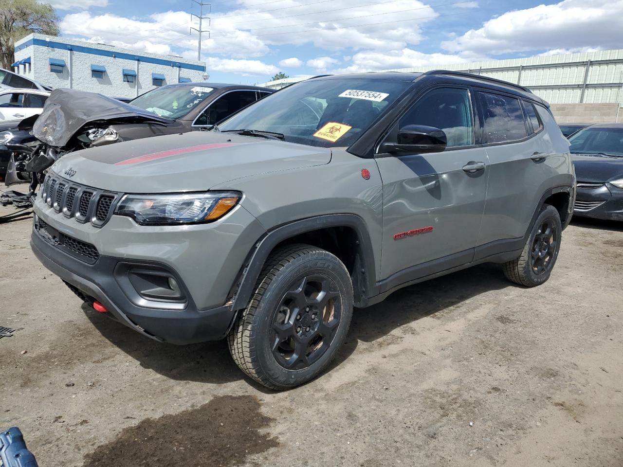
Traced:
<path id="1" fill-rule="evenodd" d="M 410 85 L 370 78 L 303 81 L 240 111 L 219 130 L 272 131 L 292 143 L 350 146 Z"/>

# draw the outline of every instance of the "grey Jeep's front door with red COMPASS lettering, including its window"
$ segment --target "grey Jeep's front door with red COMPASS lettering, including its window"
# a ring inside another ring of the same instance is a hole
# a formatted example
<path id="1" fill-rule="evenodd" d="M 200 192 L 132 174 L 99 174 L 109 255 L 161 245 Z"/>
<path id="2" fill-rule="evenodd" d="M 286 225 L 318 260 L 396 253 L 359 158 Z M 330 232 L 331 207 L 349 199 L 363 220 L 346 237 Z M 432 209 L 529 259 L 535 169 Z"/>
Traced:
<path id="1" fill-rule="evenodd" d="M 488 179 L 474 121 L 468 88 L 435 88 L 390 131 L 388 141 L 403 126 L 433 126 L 448 144 L 441 153 L 376 159 L 384 193 L 381 278 L 388 288 L 472 260 Z"/>

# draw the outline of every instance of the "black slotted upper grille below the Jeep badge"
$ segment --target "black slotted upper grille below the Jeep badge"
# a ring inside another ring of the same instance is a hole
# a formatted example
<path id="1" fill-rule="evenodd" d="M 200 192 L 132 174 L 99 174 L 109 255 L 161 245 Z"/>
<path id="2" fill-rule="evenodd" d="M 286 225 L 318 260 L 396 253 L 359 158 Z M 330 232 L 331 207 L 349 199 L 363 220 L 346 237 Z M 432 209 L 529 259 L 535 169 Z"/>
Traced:
<path id="1" fill-rule="evenodd" d="M 121 194 L 73 183 L 50 173 L 45 177 L 40 197 L 42 202 L 65 217 L 102 227 L 115 211 Z"/>

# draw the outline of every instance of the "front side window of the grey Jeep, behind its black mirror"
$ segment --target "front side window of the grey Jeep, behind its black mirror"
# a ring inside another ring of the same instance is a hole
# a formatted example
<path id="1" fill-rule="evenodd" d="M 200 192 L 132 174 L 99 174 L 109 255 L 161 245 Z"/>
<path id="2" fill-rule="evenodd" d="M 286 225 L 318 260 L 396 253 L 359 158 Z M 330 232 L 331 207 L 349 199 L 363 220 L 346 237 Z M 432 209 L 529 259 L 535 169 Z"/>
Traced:
<path id="1" fill-rule="evenodd" d="M 472 105 L 467 89 L 439 88 L 419 99 L 402 116 L 399 128 L 406 125 L 433 126 L 444 130 L 447 148 L 474 144 Z"/>

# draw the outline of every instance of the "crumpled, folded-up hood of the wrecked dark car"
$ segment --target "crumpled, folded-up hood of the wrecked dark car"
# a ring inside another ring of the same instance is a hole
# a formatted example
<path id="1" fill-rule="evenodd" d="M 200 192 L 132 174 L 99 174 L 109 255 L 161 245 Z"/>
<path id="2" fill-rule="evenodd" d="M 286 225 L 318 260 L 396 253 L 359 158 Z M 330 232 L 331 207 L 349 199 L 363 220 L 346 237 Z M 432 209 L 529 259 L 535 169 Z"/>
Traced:
<path id="1" fill-rule="evenodd" d="M 55 89 L 45 101 L 41 115 L 32 128 L 37 139 L 50 146 L 65 146 L 87 123 L 93 121 L 153 122 L 168 125 L 169 118 L 159 117 L 112 97 L 74 89 Z"/>

